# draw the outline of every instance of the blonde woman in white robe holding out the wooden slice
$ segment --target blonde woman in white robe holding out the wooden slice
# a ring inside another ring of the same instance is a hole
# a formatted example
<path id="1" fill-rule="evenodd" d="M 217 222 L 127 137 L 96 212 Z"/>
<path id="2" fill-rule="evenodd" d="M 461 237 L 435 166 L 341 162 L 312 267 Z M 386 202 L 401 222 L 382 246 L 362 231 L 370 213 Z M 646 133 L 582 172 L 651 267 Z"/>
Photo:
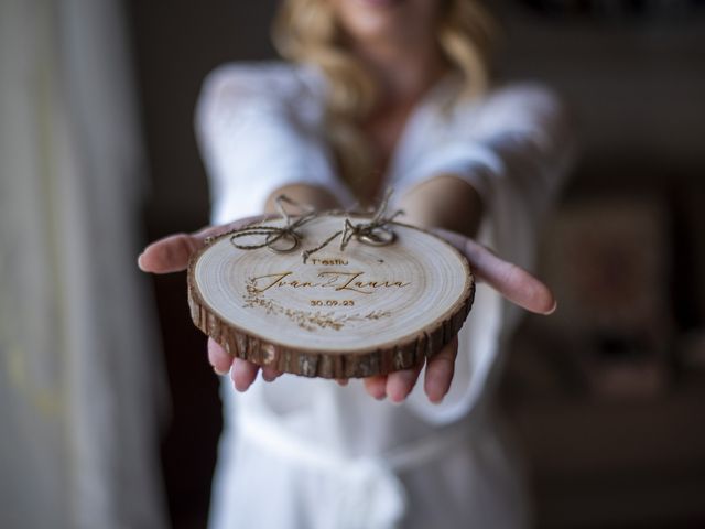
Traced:
<path id="1" fill-rule="evenodd" d="M 404 220 L 438 228 L 487 284 L 425 367 L 347 386 L 269 368 L 258 379 L 210 342 L 239 391 L 224 388 L 212 527 L 525 526 L 489 398 L 517 312 L 499 294 L 539 313 L 555 303 L 469 237 L 531 263 L 568 160 L 560 105 L 535 86 L 489 88 L 494 29 L 474 0 L 286 0 L 275 30 L 291 63 L 226 66 L 204 87 L 214 222 L 270 210 L 280 194 L 325 209 L 392 186 Z M 140 266 L 182 269 L 228 227 L 155 242 Z"/>

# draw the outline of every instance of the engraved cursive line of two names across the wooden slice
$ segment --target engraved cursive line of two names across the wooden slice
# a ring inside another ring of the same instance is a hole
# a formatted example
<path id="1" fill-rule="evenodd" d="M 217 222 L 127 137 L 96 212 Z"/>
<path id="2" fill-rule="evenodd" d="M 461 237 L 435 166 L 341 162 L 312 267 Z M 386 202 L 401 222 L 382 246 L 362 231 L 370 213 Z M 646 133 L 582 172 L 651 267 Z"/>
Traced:
<path id="1" fill-rule="evenodd" d="M 294 277 L 294 272 L 270 273 L 252 278 L 258 292 L 267 292 L 275 287 L 290 287 L 292 289 L 333 289 L 336 292 L 351 291 L 360 294 L 372 294 L 379 289 L 402 289 L 411 283 L 403 281 L 379 281 L 362 279 L 365 272 L 319 272 L 319 281 L 301 281 Z"/>

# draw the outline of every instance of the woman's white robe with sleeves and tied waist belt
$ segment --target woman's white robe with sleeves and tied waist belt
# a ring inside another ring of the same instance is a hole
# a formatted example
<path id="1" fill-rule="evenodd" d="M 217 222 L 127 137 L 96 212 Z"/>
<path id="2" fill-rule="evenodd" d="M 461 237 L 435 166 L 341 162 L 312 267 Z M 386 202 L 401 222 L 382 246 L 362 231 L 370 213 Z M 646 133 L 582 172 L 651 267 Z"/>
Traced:
<path id="1" fill-rule="evenodd" d="M 448 76 L 415 109 L 386 185 L 400 196 L 438 174 L 466 179 L 487 212 L 478 238 L 530 267 L 538 219 L 570 159 L 562 107 L 544 88 L 519 85 L 448 112 L 457 86 Z M 325 142 L 324 90 L 314 69 L 280 63 L 209 76 L 196 128 L 214 223 L 261 213 L 292 183 L 321 185 L 351 205 Z M 339 387 L 284 375 L 237 393 L 228 379 L 212 528 L 524 527 L 521 478 L 488 406 L 516 323 L 509 309 L 478 288 L 441 404 L 422 384 L 393 404 L 371 399 L 359 380 Z"/>

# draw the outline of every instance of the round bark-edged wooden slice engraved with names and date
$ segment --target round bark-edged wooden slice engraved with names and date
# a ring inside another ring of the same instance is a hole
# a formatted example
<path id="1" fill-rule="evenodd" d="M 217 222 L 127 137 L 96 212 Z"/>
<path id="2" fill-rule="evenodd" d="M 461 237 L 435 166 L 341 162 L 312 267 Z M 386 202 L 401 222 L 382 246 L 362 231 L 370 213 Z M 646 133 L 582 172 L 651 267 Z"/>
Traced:
<path id="1" fill-rule="evenodd" d="M 369 377 L 437 353 L 473 303 L 466 259 L 441 238 L 393 223 L 390 245 L 354 237 L 340 251 L 338 237 L 304 263 L 302 250 L 343 229 L 345 218 L 308 222 L 300 228 L 302 244 L 286 253 L 234 245 L 256 246 L 262 234 L 212 241 L 188 268 L 196 326 L 231 355 L 306 377 Z M 282 238 L 276 247 L 292 244 Z"/>

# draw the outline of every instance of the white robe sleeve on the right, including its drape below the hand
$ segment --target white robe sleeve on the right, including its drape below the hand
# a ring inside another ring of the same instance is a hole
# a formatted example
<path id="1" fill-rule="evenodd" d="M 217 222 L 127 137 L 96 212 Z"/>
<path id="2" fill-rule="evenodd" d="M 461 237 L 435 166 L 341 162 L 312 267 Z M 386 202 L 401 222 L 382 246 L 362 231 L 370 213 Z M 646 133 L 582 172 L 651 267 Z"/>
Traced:
<path id="1" fill-rule="evenodd" d="M 489 97 L 468 115 L 467 123 L 456 121 L 453 132 L 454 139 L 427 154 L 410 180 L 438 174 L 466 180 L 480 194 L 485 208 L 479 241 L 531 270 L 540 220 L 575 153 L 562 102 L 541 86 L 517 85 Z M 440 406 L 430 404 L 422 392 L 414 391 L 411 408 L 441 424 L 478 408 L 499 371 L 503 344 L 520 314 L 480 284 L 474 311 L 459 334 L 451 391 Z"/>

